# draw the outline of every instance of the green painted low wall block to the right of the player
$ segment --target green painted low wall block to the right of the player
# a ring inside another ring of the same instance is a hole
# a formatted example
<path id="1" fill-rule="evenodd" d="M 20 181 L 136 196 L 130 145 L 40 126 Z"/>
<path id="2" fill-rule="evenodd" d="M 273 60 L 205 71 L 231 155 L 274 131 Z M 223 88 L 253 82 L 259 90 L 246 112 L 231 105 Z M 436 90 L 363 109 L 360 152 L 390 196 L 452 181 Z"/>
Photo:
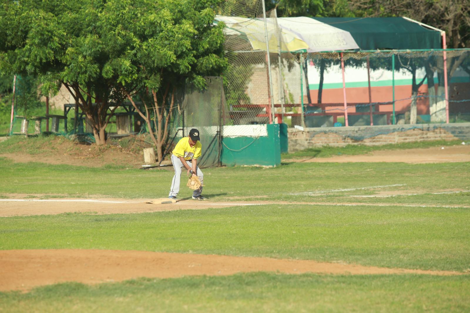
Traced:
<path id="1" fill-rule="evenodd" d="M 222 165 L 280 165 L 281 146 L 285 151 L 288 148 L 287 125 L 268 124 L 266 128 L 267 136 L 222 137 Z"/>

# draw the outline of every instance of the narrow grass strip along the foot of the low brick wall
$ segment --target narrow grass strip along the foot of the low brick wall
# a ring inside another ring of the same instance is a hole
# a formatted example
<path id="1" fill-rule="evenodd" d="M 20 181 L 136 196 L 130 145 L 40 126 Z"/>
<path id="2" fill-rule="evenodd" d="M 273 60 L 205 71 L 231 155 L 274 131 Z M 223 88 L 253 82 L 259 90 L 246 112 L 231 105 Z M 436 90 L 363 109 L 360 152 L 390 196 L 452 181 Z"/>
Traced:
<path id="1" fill-rule="evenodd" d="M 454 141 L 419 141 L 419 142 L 403 142 L 393 143 L 380 146 L 366 146 L 366 145 L 347 145 L 345 147 L 330 147 L 324 146 L 319 148 L 308 148 L 305 150 L 282 153 L 282 159 L 295 159 L 295 158 L 313 158 L 313 157 L 334 157 L 342 155 L 360 155 L 367 154 L 379 150 L 400 150 L 400 149 L 416 149 L 416 148 L 431 148 L 431 147 L 448 147 L 462 144 L 461 140 Z"/>

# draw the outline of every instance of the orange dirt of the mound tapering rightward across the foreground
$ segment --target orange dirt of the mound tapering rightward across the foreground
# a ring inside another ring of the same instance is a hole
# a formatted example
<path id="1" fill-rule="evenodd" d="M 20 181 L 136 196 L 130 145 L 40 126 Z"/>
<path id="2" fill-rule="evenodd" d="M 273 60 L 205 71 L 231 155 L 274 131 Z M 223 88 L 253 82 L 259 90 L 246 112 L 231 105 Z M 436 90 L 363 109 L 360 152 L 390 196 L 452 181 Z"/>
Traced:
<path id="1" fill-rule="evenodd" d="M 462 274 L 312 260 L 133 250 L 0 250 L 0 291 L 30 290 L 33 287 L 60 282 L 95 284 L 139 277 L 231 275 L 260 271 L 288 274 Z"/>

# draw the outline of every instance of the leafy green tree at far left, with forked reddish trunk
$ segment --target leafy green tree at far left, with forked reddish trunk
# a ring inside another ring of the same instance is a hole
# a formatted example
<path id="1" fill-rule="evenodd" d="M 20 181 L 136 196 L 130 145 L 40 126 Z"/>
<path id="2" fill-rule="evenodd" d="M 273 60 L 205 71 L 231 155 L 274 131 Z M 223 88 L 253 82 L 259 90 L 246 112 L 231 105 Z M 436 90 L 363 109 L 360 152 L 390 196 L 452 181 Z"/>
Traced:
<path id="1" fill-rule="evenodd" d="M 112 48 L 103 40 L 105 0 L 18 0 L 3 3 L 0 70 L 37 76 L 42 93 L 67 87 L 93 126 L 97 144 L 123 96 L 104 78 Z M 110 106 L 111 114 L 107 114 Z"/>

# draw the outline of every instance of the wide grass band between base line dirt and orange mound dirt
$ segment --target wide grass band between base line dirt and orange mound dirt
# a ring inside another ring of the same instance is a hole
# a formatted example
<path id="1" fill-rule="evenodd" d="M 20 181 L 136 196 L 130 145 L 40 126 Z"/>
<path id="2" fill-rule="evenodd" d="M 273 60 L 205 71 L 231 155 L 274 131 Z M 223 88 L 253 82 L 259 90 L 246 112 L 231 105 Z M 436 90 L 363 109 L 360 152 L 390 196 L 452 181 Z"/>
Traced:
<path id="1" fill-rule="evenodd" d="M 26 205 L 26 204 L 25 204 Z M 260 205 L 0 218 L 0 249 L 110 249 L 468 271 L 468 209 Z M 28 229 L 31 232 L 16 232 Z"/>

